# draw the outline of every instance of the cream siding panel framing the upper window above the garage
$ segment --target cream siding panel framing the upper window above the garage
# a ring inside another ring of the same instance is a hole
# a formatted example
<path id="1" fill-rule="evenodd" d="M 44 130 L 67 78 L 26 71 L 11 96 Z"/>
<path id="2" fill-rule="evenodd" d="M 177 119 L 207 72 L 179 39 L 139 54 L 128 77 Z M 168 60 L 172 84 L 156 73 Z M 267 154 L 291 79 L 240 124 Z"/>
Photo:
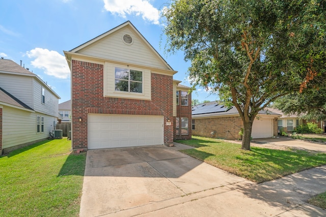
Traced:
<path id="1" fill-rule="evenodd" d="M 104 97 L 118 97 L 128 99 L 151 100 L 151 71 L 129 67 L 128 69 L 143 72 L 143 92 L 124 92 L 115 90 L 115 69 L 116 67 L 126 68 L 122 65 L 115 65 L 106 62 L 104 69 Z"/>

